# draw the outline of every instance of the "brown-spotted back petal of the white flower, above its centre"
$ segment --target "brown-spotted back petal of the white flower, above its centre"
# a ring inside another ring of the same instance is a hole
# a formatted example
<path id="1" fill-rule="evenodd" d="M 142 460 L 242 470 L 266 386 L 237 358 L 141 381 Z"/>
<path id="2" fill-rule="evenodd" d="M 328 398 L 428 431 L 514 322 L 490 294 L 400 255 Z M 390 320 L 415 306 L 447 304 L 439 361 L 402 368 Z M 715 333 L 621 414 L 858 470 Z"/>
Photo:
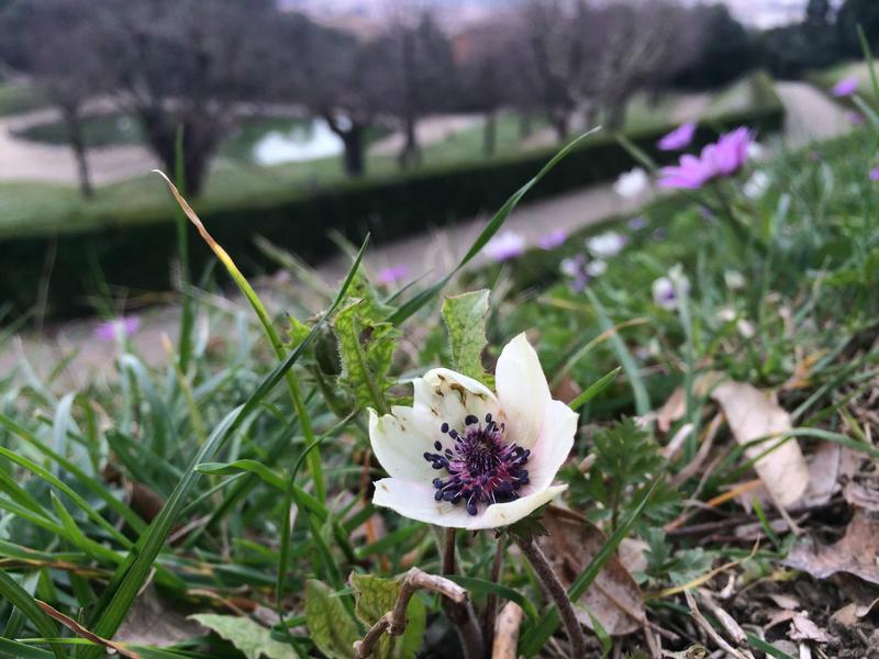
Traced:
<path id="1" fill-rule="evenodd" d="M 426 424 L 424 432 L 432 432 L 430 425 L 433 423 L 437 438 L 443 423 L 460 432 L 468 414 L 474 414 L 480 422 L 488 413 L 498 415 L 498 399 L 485 384 L 447 368 L 430 370 L 413 384 L 413 409 L 418 421 Z"/>

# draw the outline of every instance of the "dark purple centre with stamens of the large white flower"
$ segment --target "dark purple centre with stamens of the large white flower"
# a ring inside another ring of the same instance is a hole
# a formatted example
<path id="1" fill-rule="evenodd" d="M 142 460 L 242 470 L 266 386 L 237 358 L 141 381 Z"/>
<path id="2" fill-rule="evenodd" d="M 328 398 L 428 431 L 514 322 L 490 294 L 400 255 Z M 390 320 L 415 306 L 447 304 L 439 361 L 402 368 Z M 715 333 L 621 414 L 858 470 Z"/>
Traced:
<path id="1" fill-rule="evenodd" d="M 531 450 L 504 442 L 505 424 L 498 425 L 491 414 L 486 414 L 485 425 L 472 414 L 464 423 L 463 433 L 447 423 L 439 426 L 454 442 L 452 448 L 437 440 L 433 446 L 438 453 L 424 454 L 434 469 L 445 469 L 448 473 L 448 478 L 433 480 L 434 499 L 453 505 L 464 501 L 471 515 L 476 515 L 479 505 L 519 499 L 518 490 L 528 482 L 523 466 Z"/>

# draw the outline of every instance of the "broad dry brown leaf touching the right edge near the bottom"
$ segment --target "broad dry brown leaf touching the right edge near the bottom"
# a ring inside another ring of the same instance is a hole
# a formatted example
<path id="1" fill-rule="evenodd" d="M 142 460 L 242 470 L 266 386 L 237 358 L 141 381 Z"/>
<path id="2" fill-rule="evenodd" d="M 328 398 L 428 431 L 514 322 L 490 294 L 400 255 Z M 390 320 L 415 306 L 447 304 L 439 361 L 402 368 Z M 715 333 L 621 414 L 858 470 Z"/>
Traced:
<path id="1" fill-rule="evenodd" d="M 785 565 L 808 572 L 816 579 L 827 579 L 837 572 L 847 572 L 879 584 L 877 555 L 879 555 L 879 520 L 858 510 L 838 543 L 828 546 L 815 541 L 794 545 L 785 559 Z"/>

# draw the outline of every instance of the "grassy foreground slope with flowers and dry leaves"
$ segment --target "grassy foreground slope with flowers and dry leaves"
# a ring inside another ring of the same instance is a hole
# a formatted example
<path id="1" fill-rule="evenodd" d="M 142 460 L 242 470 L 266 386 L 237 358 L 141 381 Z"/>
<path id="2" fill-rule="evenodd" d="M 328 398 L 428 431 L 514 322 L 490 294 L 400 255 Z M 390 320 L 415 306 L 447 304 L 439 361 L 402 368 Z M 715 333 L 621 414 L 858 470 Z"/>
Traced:
<path id="1" fill-rule="evenodd" d="M 121 324 L 76 390 L 20 360 L 0 654 L 868 656 L 877 135 L 438 286 L 266 312 L 220 252 L 244 297 L 191 291 L 164 366 Z"/>

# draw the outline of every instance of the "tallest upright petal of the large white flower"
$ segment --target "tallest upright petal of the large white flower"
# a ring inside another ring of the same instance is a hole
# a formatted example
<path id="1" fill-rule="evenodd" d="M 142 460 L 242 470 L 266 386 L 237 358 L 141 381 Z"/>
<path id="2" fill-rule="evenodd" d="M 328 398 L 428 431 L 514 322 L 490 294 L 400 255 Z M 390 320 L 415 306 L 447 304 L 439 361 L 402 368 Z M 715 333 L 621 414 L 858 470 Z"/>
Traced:
<path id="1" fill-rule="evenodd" d="M 508 440 L 532 448 L 552 396 L 537 353 L 524 334 L 504 346 L 494 372 L 498 399 L 507 416 Z"/>

